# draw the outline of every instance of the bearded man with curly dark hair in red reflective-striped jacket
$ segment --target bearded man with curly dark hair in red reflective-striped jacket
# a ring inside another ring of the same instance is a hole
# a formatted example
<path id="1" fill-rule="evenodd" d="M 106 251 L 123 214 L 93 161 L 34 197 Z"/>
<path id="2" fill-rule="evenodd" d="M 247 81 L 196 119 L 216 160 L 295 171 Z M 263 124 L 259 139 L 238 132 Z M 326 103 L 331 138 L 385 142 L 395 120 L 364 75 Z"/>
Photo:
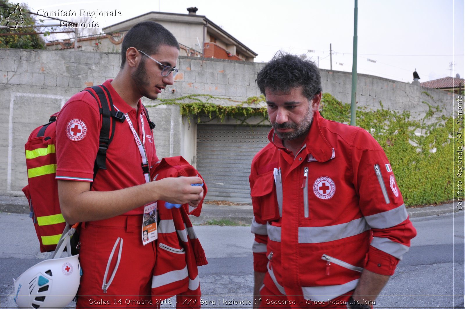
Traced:
<path id="1" fill-rule="evenodd" d="M 315 63 L 277 54 L 257 84 L 272 129 L 249 178 L 254 306 L 371 308 L 416 235 L 383 149 L 321 117 Z"/>

